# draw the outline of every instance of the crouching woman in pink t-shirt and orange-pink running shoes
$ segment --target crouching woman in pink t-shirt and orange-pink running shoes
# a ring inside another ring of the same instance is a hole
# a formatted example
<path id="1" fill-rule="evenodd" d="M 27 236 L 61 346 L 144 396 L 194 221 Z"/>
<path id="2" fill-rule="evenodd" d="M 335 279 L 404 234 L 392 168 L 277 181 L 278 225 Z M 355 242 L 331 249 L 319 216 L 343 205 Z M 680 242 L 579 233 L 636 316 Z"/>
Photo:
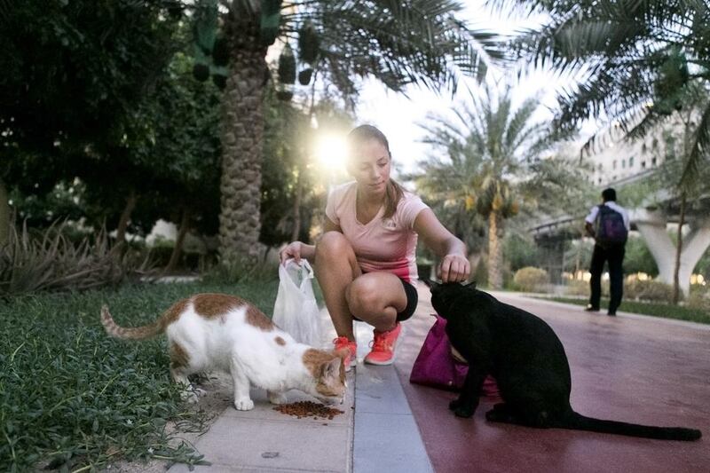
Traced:
<path id="1" fill-rule="evenodd" d="M 356 364 L 352 321 L 374 328 L 372 351 L 365 362 L 389 365 L 403 320 L 417 305 L 417 237 L 441 259 L 444 282 L 467 280 L 464 243 L 446 230 L 414 193 L 390 178 L 390 146 L 383 132 L 361 125 L 348 135 L 347 169 L 355 180 L 328 195 L 324 234 L 315 245 L 293 241 L 280 260 L 306 258 L 315 266 L 327 311 L 333 321 L 335 350 L 347 348 L 345 369 Z"/>

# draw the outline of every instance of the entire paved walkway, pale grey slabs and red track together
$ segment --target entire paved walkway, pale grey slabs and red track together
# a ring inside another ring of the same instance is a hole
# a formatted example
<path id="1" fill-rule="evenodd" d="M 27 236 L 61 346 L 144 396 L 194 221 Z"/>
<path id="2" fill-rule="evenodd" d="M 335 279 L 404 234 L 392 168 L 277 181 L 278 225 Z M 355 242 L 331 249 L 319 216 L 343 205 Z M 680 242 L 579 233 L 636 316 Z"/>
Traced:
<path id="1" fill-rule="evenodd" d="M 572 430 L 533 430 L 485 422 L 493 400 L 472 419 L 447 405 L 454 393 L 408 382 L 433 318 L 429 290 L 405 325 L 390 367 L 361 363 L 372 332 L 356 324 L 359 365 L 348 376 L 343 415 L 296 419 L 272 409 L 254 390 L 255 408 L 225 410 L 196 443 L 211 467 L 236 472 L 683 472 L 710 470 L 710 327 L 620 313 L 588 314 L 579 306 L 496 294 L 548 321 L 572 366 L 572 406 L 581 414 L 703 430 L 699 442 L 664 442 Z M 328 327 L 323 313 L 324 327 Z M 324 344 L 332 339 L 326 333 Z M 291 391 L 289 402 L 306 399 Z M 176 465 L 170 472 L 184 472 Z"/>

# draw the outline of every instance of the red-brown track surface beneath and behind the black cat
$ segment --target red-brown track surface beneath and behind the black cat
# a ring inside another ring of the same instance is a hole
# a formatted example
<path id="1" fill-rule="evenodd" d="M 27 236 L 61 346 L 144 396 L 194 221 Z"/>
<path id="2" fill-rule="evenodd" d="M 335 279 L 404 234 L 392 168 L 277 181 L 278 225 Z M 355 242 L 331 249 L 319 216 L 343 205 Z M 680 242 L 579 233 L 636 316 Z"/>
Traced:
<path id="1" fill-rule="evenodd" d="M 564 304 L 501 294 L 545 319 L 564 343 L 572 369 L 572 407 L 580 414 L 700 429 L 698 442 L 630 438 L 574 430 L 489 423 L 492 399 L 471 419 L 447 406 L 456 394 L 409 383 L 434 318 L 429 289 L 406 322 L 395 363 L 430 461 L 445 472 L 701 472 L 710 471 L 710 327 L 621 314 L 588 314 Z"/>

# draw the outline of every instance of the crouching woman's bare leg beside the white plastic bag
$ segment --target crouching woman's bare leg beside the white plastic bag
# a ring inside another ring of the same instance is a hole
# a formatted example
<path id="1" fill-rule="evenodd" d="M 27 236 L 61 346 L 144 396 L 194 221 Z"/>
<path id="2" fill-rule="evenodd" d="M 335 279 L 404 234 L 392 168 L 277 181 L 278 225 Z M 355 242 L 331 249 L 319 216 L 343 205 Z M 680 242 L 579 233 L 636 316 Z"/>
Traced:
<path id="1" fill-rule="evenodd" d="M 335 333 L 352 342 L 352 312 L 345 292 L 353 280 L 362 274 L 350 241 L 343 233 L 328 232 L 316 243 L 315 274 L 327 311 L 333 320 Z"/>

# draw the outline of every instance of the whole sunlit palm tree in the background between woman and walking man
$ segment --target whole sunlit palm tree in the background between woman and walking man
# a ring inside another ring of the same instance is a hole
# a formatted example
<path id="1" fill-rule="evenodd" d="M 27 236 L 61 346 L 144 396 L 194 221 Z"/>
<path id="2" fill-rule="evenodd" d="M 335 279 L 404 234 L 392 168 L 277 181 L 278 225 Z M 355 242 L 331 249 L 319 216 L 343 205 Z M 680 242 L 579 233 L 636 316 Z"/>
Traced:
<path id="1" fill-rule="evenodd" d="M 534 123 L 537 99 L 513 109 L 510 89 L 485 87 L 472 106 L 458 106 L 455 119 L 430 116 L 425 143 L 446 156 L 424 163 L 419 183 L 438 190 L 464 209 L 477 211 L 488 225 L 488 284 L 502 287 L 501 240 L 503 221 L 517 214 L 520 205 L 517 177 L 548 148 L 547 126 Z"/>

